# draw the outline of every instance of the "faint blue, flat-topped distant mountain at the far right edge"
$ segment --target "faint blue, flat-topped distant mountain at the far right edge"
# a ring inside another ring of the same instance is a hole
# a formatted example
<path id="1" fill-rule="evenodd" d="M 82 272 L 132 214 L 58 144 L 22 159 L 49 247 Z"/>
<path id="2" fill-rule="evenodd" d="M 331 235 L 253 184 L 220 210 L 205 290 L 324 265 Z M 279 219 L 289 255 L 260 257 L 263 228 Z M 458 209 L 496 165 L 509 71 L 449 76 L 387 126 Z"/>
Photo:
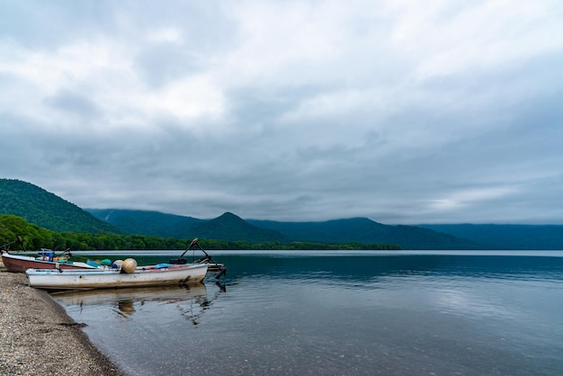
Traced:
<path id="1" fill-rule="evenodd" d="M 560 225 L 418 225 L 453 237 L 473 240 L 487 249 L 563 249 Z"/>

